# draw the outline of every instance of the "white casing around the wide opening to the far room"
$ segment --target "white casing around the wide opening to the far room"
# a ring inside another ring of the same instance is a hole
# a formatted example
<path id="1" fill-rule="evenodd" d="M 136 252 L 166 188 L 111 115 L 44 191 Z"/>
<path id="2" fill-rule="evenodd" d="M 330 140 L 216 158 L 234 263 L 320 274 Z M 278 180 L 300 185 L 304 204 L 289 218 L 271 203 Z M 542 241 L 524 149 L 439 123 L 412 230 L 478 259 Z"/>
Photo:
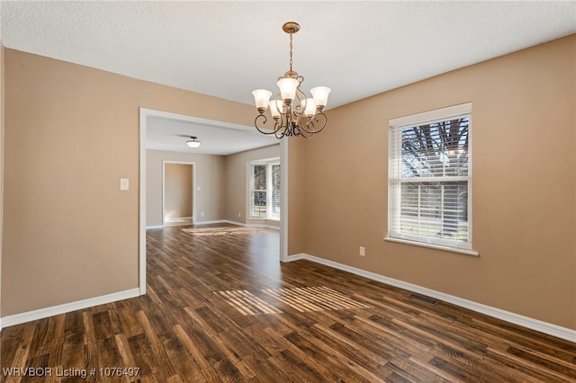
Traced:
<path id="1" fill-rule="evenodd" d="M 224 126 L 230 129 L 254 129 L 246 125 L 207 120 L 184 114 L 154 109 L 139 108 L 139 293 L 146 294 L 146 127 L 148 116 L 205 123 L 212 126 Z M 288 262 L 288 139 L 280 141 L 280 252 L 279 261 Z M 164 218 L 163 218 L 164 220 Z"/>

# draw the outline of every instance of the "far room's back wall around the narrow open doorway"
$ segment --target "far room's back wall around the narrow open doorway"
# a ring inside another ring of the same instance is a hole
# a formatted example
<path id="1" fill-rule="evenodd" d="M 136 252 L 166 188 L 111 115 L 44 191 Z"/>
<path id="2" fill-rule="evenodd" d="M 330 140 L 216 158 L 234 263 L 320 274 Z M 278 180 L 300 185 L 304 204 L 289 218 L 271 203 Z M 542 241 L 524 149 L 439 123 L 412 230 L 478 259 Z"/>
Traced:
<path id="1" fill-rule="evenodd" d="M 226 206 L 226 157 L 164 150 L 146 151 L 146 226 L 162 225 L 163 161 L 194 163 L 196 223 L 224 219 Z M 202 212 L 204 215 L 202 216 Z M 185 216 L 184 216 L 185 217 Z M 189 217 L 189 216 L 187 216 Z"/>

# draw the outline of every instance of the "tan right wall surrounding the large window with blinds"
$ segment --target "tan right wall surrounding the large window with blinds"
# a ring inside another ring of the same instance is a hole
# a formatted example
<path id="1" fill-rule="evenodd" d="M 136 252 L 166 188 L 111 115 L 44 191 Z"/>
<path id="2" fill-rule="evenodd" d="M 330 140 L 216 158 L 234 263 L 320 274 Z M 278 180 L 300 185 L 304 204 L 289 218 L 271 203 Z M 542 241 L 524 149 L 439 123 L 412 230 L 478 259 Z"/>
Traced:
<path id="1" fill-rule="evenodd" d="M 329 111 L 329 127 L 305 142 L 300 168 L 307 167 L 313 203 L 290 217 L 307 231 L 297 245 L 576 329 L 575 67 L 572 35 Z M 473 249 L 480 257 L 383 241 L 388 120 L 463 102 L 473 102 Z"/>

